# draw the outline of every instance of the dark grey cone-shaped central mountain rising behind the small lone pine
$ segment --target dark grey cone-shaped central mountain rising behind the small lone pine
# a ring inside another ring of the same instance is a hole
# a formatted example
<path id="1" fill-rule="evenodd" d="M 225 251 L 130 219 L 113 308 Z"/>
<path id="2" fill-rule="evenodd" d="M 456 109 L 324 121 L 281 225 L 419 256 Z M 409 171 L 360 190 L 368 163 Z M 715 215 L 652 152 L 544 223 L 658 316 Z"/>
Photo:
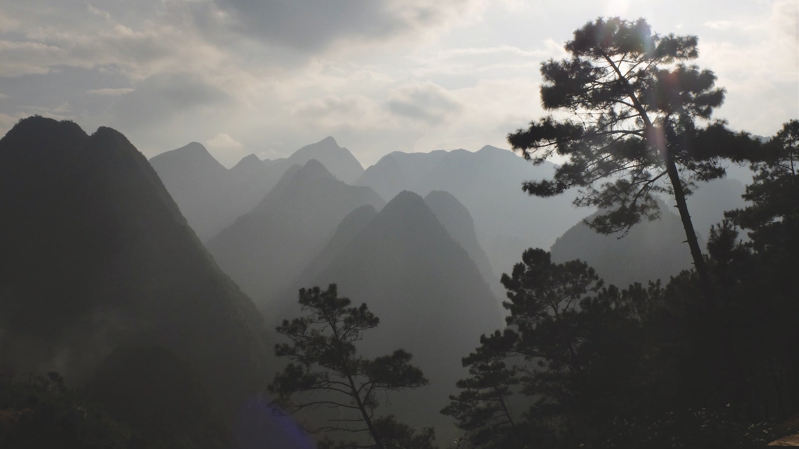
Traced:
<path id="1" fill-rule="evenodd" d="M 352 234 L 357 227 L 339 229 Z M 428 387 L 392 395 L 385 413 L 396 411 L 419 427 L 451 426 L 438 410 L 467 375 L 461 358 L 479 345 L 481 334 L 503 323 L 497 299 L 466 250 L 415 193 L 398 194 L 354 238 L 332 237 L 338 239 L 349 243 L 324 257 L 327 266 L 306 268 L 319 274 L 299 287 L 335 283 L 341 296 L 366 303 L 380 325 L 360 342 L 364 355 L 406 349 L 430 379 Z M 279 316 L 298 316 L 296 293 L 286 304 Z"/>

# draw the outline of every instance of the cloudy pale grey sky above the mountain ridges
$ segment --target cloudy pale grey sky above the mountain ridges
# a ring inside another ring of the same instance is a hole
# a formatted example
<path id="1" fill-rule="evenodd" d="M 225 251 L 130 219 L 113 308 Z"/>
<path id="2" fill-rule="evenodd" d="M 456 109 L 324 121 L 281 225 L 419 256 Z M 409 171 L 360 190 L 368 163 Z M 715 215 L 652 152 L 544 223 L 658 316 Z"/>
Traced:
<path id="1" fill-rule="evenodd" d="M 0 0 L 0 135 L 33 114 L 110 126 L 146 157 L 201 142 L 223 165 L 333 136 L 392 151 L 508 148 L 543 117 L 541 62 L 598 17 L 694 34 L 715 118 L 799 118 L 799 2 Z"/>

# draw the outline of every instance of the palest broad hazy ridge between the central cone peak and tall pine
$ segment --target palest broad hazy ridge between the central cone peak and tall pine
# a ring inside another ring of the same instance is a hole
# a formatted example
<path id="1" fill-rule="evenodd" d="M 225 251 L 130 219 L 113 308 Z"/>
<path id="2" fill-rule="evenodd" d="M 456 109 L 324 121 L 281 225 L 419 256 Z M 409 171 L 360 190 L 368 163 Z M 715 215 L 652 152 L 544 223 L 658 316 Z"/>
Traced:
<path id="1" fill-rule="evenodd" d="M 554 198 L 530 197 L 523 181 L 551 177 L 553 165 L 533 165 L 511 151 L 486 145 L 432 153 L 390 153 L 369 167 L 357 185 L 368 185 L 384 198 L 407 189 L 420 195 L 443 190 L 466 206 L 479 242 L 494 272 L 511 272 L 521 248 L 547 248 L 586 211 L 571 205 L 568 193 Z"/>

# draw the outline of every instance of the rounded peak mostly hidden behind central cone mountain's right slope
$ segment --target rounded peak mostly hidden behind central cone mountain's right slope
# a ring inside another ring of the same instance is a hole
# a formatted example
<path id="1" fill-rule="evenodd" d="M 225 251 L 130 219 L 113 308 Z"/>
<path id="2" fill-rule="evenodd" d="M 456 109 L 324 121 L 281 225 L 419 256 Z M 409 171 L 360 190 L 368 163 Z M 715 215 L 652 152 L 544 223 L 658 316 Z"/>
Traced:
<path id="1" fill-rule="evenodd" d="M 466 206 L 462 205 L 451 193 L 442 190 L 433 190 L 431 193 L 427 193 L 424 203 L 433 211 L 449 235 L 466 250 L 495 296 L 504 298 L 505 290 L 499 283 L 499 276 L 491 268 L 491 262 L 488 261 L 486 252 L 477 241 L 475 221 L 471 219 L 471 214 Z"/>

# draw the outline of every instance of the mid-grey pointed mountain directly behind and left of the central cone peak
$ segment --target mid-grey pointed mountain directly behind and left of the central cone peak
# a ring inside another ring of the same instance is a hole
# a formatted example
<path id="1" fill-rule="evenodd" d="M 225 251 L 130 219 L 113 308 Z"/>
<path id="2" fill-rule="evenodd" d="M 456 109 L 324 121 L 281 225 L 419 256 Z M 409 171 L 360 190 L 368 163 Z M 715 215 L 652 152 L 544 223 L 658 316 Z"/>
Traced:
<path id="1" fill-rule="evenodd" d="M 344 217 L 362 205 L 381 208 L 384 201 L 368 187 L 337 180 L 312 159 L 289 169 L 252 212 L 209 240 L 208 248 L 244 292 L 264 306 L 288 288 Z"/>

